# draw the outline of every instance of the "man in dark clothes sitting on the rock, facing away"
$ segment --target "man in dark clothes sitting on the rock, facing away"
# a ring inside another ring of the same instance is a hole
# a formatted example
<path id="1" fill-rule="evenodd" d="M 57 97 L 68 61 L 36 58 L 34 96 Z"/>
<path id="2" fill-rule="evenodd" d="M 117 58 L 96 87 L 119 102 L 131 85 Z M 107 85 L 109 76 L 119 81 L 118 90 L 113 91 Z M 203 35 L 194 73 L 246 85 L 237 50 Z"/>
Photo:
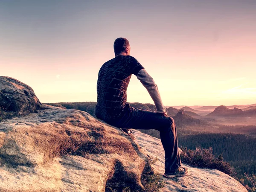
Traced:
<path id="1" fill-rule="evenodd" d="M 110 125 L 124 128 L 131 137 L 129 128 L 156 129 L 165 150 L 164 177 L 185 176 L 188 168 L 181 166 L 176 125 L 167 116 L 157 85 L 145 68 L 130 55 L 131 47 L 125 38 L 114 42 L 115 58 L 107 61 L 99 70 L 97 81 L 96 117 Z M 131 74 L 148 90 L 156 106 L 156 112 L 131 107 L 127 101 L 127 87 Z"/>

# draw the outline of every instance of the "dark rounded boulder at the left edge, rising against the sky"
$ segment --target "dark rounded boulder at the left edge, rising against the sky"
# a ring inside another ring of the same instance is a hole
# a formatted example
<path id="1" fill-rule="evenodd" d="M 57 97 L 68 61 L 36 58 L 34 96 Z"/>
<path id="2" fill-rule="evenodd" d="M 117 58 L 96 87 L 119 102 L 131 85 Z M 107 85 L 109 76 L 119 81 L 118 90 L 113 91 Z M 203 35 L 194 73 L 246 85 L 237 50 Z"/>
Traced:
<path id="1" fill-rule="evenodd" d="M 0 76 L 0 122 L 33 113 L 41 106 L 31 87 L 11 77 Z"/>

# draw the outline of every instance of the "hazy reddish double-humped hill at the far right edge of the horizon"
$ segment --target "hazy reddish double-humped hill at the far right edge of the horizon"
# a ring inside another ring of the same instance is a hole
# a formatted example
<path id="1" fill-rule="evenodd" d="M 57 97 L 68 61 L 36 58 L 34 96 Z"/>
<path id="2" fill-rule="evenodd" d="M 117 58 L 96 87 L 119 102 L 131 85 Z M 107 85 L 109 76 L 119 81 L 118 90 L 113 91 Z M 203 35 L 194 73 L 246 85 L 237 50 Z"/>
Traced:
<path id="1" fill-rule="evenodd" d="M 237 117 L 251 117 L 256 116 L 256 109 L 250 109 L 247 111 L 242 111 L 238 108 L 229 109 L 224 105 L 218 106 L 212 113 L 209 113 L 207 116 L 237 116 Z"/>

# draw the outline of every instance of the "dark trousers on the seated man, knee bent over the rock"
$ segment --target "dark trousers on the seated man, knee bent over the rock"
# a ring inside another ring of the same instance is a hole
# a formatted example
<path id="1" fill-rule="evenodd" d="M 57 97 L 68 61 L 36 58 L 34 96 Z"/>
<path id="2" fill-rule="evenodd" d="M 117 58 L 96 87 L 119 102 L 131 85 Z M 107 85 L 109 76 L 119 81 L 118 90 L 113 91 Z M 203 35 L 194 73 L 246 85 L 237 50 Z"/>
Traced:
<path id="1" fill-rule="evenodd" d="M 156 129 L 160 131 L 160 139 L 165 151 L 166 173 L 173 172 L 181 166 L 176 125 L 172 117 L 130 107 L 129 112 L 124 113 L 120 119 L 108 123 L 119 128 Z"/>

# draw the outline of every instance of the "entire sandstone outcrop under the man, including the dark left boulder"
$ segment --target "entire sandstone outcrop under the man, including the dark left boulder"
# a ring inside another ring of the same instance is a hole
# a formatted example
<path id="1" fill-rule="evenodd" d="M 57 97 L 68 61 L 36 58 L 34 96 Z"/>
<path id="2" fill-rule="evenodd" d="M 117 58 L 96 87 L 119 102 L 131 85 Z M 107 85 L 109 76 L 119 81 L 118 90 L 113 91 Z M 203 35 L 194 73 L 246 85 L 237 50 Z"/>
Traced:
<path id="1" fill-rule="evenodd" d="M 134 142 L 86 112 L 42 105 L 12 78 L 1 77 L 0 93 L 0 112 L 12 117 L 0 122 L 0 192 L 104 192 L 113 184 L 143 189 L 148 156 L 159 159 L 154 172 L 164 172 L 163 147 L 154 137 L 134 130 Z M 217 170 L 190 168 L 189 176 L 166 180 L 162 191 L 246 189 Z"/>

